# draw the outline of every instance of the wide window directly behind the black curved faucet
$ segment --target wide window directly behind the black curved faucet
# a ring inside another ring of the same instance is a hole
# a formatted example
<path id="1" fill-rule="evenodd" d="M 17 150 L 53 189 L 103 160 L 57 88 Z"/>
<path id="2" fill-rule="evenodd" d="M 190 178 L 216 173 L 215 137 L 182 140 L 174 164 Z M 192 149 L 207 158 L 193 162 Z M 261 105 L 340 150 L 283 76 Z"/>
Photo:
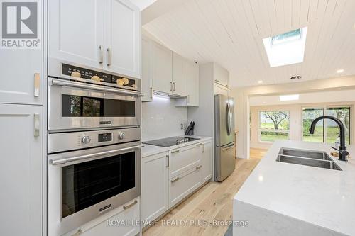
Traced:
<path id="1" fill-rule="evenodd" d="M 326 142 L 329 145 L 334 145 L 334 142 L 339 136 L 339 127 L 333 120 L 320 120 L 315 128 L 315 134 L 310 135 L 310 124 L 312 120 L 319 116 L 334 116 L 342 120 L 345 126 L 346 144 L 350 142 L 350 106 L 326 106 L 320 108 L 303 108 L 302 123 L 303 135 L 302 139 L 305 142 Z"/>

